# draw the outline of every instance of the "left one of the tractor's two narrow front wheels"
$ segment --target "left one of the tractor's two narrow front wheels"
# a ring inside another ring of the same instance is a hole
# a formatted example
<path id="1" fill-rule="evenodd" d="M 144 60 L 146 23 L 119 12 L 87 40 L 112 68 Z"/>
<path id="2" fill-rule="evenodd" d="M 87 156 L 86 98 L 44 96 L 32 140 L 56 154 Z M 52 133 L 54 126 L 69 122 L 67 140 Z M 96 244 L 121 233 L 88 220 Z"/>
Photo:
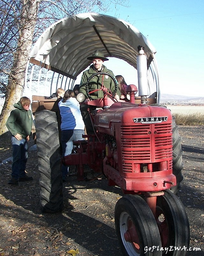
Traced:
<path id="1" fill-rule="evenodd" d="M 140 197 L 125 195 L 115 205 L 115 228 L 124 256 L 161 256 L 157 223 L 147 203 Z"/>

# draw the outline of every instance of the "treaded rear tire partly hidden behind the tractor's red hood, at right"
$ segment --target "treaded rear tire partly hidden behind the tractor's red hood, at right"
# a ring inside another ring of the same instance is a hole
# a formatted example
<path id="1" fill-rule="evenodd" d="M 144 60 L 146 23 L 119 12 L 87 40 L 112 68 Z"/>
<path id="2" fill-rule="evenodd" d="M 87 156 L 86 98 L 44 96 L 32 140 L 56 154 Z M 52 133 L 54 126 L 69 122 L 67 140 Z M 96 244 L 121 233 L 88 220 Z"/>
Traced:
<path id="1" fill-rule="evenodd" d="M 163 107 L 165 105 L 151 104 L 151 106 Z M 173 139 L 173 174 L 176 176 L 176 186 L 171 187 L 171 192 L 177 194 L 181 188 L 181 181 L 183 180 L 182 169 L 182 156 L 183 150 L 181 149 L 181 138 L 179 136 L 179 126 L 175 122 L 175 116 L 172 116 L 172 139 Z"/>

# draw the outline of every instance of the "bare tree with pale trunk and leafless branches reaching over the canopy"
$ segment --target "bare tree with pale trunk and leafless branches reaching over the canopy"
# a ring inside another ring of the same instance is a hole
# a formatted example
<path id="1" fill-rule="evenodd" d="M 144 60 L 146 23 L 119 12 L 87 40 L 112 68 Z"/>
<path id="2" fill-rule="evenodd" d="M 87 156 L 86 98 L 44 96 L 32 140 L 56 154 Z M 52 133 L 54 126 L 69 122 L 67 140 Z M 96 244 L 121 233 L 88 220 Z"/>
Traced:
<path id="1" fill-rule="evenodd" d="M 106 12 L 127 0 L 0 0 L 0 136 L 13 104 L 23 95 L 25 69 L 32 45 L 53 22 L 80 12 Z"/>

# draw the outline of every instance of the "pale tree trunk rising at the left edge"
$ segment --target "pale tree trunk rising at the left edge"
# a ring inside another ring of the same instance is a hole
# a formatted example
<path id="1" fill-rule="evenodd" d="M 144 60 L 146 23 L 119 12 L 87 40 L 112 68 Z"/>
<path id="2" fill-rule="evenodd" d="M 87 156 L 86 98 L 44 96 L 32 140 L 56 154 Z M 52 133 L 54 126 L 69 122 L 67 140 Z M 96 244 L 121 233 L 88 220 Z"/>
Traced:
<path id="1" fill-rule="evenodd" d="M 19 21 L 18 48 L 14 54 L 13 67 L 9 76 L 6 99 L 0 115 L 0 136 L 8 131 L 6 121 L 14 109 L 13 104 L 23 95 L 25 86 L 25 69 L 28 54 L 32 46 L 33 33 L 36 25 L 39 0 L 23 0 Z"/>

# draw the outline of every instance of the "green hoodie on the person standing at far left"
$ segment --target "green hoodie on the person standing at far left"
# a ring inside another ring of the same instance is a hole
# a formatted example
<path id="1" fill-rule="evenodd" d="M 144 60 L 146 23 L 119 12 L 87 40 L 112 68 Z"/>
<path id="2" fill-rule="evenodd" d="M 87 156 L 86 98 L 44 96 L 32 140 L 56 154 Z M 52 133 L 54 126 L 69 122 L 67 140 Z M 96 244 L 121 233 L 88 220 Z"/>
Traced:
<path id="1" fill-rule="evenodd" d="M 23 139 L 26 139 L 31 134 L 33 125 L 32 113 L 30 110 L 25 110 L 20 101 L 13 105 L 16 109 L 11 111 L 11 114 L 6 122 L 6 127 L 13 136 L 17 133 L 20 134 Z"/>

